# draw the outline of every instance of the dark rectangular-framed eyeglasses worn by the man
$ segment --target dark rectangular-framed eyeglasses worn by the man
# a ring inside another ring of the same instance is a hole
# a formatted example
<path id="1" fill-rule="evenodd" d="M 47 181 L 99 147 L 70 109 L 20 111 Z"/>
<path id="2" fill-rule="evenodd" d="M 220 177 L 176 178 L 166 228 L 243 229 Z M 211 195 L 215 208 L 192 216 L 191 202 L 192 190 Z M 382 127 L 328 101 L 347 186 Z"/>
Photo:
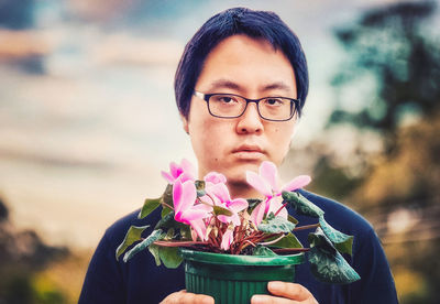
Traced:
<path id="1" fill-rule="evenodd" d="M 260 117 L 270 121 L 289 120 L 299 109 L 299 99 L 287 97 L 249 99 L 234 94 L 204 94 L 197 90 L 194 95 L 207 101 L 209 113 L 219 118 L 241 117 L 249 102 L 255 102 Z"/>

